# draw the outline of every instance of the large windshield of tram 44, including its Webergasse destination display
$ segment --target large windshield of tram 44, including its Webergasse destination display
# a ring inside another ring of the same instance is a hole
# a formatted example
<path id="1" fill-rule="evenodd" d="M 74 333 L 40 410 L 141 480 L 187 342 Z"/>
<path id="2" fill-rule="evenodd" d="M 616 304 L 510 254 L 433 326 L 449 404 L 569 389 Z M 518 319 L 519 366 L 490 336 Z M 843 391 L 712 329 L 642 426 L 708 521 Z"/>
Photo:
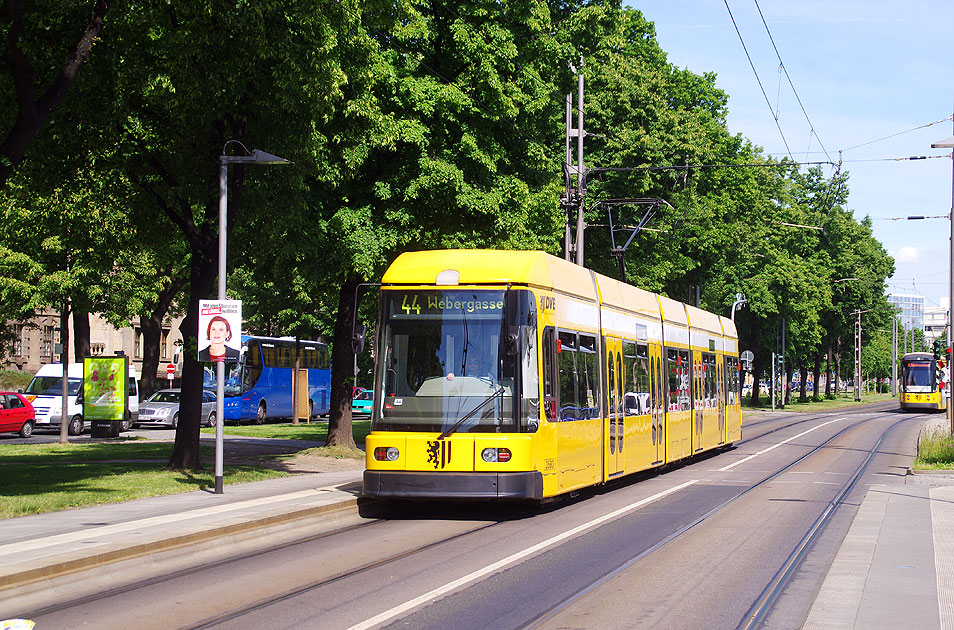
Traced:
<path id="1" fill-rule="evenodd" d="M 374 430 L 535 430 L 532 293 L 455 288 L 384 291 L 382 299 Z"/>

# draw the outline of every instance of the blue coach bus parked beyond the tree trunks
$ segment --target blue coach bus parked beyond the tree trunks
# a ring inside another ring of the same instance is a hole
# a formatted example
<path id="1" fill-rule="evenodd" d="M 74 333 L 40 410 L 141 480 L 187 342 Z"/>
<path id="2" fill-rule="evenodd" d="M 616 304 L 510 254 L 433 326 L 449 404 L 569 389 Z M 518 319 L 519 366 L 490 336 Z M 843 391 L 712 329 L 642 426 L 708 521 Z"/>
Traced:
<path id="1" fill-rule="evenodd" d="M 308 416 L 328 413 L 331 370 L 328 344 L 293 337 L 242 335 L 238 363 L 226 366 L 225 420 L 262 424 L 292 417 L 292 377 L 299 366 L 299 384 L 307 390 Z M 299 400 L 304 405 L 304 395 Z M 302 406 L 299 414 L 304 414 Z"/>

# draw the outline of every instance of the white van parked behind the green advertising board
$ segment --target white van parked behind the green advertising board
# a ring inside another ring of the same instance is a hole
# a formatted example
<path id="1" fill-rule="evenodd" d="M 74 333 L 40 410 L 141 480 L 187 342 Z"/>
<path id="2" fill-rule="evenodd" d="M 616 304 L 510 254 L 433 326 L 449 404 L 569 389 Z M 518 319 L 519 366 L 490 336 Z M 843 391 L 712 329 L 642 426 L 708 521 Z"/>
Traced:
<path id="1" fill-rule="evenodd" d="M 67 367 L 66 394 L 69 425 L 67 433 L 79 435 L 83 432 L 83 403 L 77 400 L 77 394 L 83 389 L 83 364 L 70 363 Z M 59 429 L 63 411 L 63 364 L 44 365 L 33 376 L 33 380 L 23 392 L 36 411 L 34 429 Z M 139 418 L 139 381 L 136 369 L 129 366 L 129 418 L 123 421 L 121 431 L 126 431 Z"/>

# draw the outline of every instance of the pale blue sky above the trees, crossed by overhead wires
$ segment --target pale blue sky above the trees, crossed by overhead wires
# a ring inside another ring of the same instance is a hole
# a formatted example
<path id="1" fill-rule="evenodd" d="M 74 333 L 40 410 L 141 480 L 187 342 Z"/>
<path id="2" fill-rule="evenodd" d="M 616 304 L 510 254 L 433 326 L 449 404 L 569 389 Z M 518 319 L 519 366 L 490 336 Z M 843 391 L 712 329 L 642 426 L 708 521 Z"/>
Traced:
<path id="1" fill-rule="evenodd" d="M 954 111 L 954 2 L 728 0 L 727 9 L 724 0 L 629 0 L 629 6 L 655 23 L 670 63 L 717 75 L 716 85 L 729 95 L 732 133 L 772 155 L 790 151 L 798 161 L 837 162 L 841 150 L 850 174 L 847 207 L 856 218 L 872 217 L 875 237 L 895 258 L 888 291 L 919 293 L 929 306 L 947 304 L 951 160 L 896 158 L 945 155 L 931 143 L 954 135 L 949 119 L 930 124 Z M 911 215 L 945 218 L 892 220 Z"/>

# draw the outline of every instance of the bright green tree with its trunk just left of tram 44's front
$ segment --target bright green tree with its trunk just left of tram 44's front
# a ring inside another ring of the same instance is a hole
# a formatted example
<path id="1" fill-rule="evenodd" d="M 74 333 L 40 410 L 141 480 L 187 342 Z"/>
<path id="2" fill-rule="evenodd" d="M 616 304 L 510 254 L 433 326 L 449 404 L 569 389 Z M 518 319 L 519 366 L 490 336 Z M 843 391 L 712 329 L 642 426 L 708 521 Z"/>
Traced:
<path id="1" fill-rule="evenodd" d="M 562 227 L 550 147 L 559 143 L 555 79 L 566 72 L 547 5 L 372 3 L 362 23 L 371 68 L 352 77 L 328 121 L 337 178 L 315 186 L 322 251 L 340 282 L 329 442 L 343 445 L 362 280 L 413 249 L 555 251 Z"/>

